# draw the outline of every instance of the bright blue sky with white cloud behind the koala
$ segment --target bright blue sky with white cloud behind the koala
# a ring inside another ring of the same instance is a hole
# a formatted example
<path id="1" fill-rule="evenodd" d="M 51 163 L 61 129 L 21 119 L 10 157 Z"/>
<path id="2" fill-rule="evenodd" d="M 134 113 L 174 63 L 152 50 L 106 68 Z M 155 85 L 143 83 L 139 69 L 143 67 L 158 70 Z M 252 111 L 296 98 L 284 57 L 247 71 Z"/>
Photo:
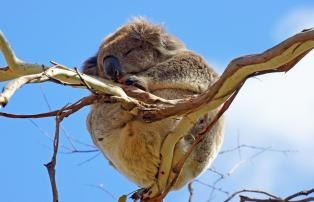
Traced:
<path id="1" fill-rule="evenodd" d="M 244 54 L 264 51 L 304 28 L 314 27 L 314 2 L 264 1 L 1 1 L 0 29 L 17 55 L 29 62 L 57 61 L 79 67 L 93 55 L 103 37 L 132 16 L 163 23 L 188 48 L 205 57 L 217 71 Z M 0 66 L 5 66 L 0 56 Z M 314 54 L 310 53 L 287 74 L 249 80 L 227 112 L 223 150 L 240 144 L 268 148 L 243 148 L 219 155 L 213 168 L 232 175 L 216 186 L 225 192 L 261 189 L 280 196 L 314 187 Z M 1 83 L 3 87 L 5 83 Z M 43 93 L 44 92 L 44 93 Z M 49 105 L 45 102 L 45 96 Z M 55 84 L 21 89 L 2 111 L 19 114 L 46 112 L 75 102 L 87 91 Z M 62 202 L 117 201 L 136 189 L 111 168 L 98 153 L 68 154 L 73 149 L 94 149 L 85 127 L 88 108 L 63 122 L 57 183 Z M 6 202 L 51 201 L 44 163 L 51 158 L 54 119 L 17 120 L 0 117 L 0 197 Z M 75 139 L 75 140 L 73 140 Z M 272 149 L 298 150 L 283 154 Z M 91 157 L 94 159 L 89 160 Z M 249 159 L 249 160 L 248 160 Z M 241 162 L 241 163 L 239 163 Z M 239 165 L 235 170 L 235 165 Z M 234 171 L 233 171 L 234 170 Z M 217 175 L 207 171 L 200 180 L 213 184 Z M 102 189 L 110 192 L 106 193 Z M 227 194 L 194 183 L 194 201 L 223 201 Z M 113 196 L 112 196 L 113 195 Z M 113 199 L 115 198 L 115 199 Z M 166 201 L 187 201 L 187 189 Z M 235 201 L 238 201 L 235 200 Z"/>

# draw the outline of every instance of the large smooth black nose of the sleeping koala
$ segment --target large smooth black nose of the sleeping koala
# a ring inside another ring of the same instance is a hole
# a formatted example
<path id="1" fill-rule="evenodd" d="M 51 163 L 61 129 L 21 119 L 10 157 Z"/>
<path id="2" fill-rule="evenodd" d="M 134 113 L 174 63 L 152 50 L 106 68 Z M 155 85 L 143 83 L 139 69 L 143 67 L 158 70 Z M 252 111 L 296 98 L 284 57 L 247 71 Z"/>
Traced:
<path id="1" fill-rule="evenodd" d="M 113 81 L 118 81 L 119 77 L 122 75 L 122 68 L 119 60 L 113 55 L 105 57 L 104 70 L 105 74 Z"/>

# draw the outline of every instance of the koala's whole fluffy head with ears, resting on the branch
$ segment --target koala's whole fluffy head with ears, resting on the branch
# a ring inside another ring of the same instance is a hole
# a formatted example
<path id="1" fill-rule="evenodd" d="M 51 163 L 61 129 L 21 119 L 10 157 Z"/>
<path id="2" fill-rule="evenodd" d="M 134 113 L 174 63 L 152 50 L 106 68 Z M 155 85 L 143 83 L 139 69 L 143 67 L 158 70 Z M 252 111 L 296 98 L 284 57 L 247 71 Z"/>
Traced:
<path id="1" fill-rule="evenodd" d="M 125 74 L 145 71 L 182 50 L 184 44 L 162 26 L 138 17 L 107 36 L 97 55 L 84 63 L 83 70 L 117 81 Z"/>

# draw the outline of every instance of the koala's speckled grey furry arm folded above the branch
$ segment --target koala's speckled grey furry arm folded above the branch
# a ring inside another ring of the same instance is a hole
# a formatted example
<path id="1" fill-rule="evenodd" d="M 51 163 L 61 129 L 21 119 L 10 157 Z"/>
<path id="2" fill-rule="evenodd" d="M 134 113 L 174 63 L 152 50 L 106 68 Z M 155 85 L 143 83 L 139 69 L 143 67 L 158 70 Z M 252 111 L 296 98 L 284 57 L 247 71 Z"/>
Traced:
<path id="1" fill-rule="evenodd" d="M 202 93 L 219 76 L 201 56 L 184 51 L 135 77 L 149 91 L 182 89 Z"/>

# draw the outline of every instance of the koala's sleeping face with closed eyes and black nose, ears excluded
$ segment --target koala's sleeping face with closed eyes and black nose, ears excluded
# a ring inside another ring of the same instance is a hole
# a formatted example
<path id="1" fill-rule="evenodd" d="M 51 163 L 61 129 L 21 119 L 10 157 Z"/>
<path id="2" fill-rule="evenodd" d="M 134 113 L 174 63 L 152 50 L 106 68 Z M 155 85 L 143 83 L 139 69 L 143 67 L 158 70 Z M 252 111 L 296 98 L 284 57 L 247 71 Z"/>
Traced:
<path id="1" fill-rule="evenodd" d="M 136 74 L 160 62 L 160 52 L 142 39 L 118 32 L 106 40 L 98 55 L 98 71 L 108 79 L 118 80 L 125 74 Z M 101 75 L 102 76 L 102 75 Z"/>

